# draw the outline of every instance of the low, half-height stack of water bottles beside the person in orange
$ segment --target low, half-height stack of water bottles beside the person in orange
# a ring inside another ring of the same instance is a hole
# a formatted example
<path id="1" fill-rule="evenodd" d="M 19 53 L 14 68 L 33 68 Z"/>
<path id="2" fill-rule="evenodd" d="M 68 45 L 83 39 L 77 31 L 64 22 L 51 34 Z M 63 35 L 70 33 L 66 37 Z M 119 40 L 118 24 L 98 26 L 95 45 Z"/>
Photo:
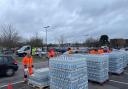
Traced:
<path id="1" fill-rule="evenodd" d="M 35 86 L 49 86 L 49 68 L 42 68 L 34 71 L 34 74 L 29 77 L 28 82 Z"/>

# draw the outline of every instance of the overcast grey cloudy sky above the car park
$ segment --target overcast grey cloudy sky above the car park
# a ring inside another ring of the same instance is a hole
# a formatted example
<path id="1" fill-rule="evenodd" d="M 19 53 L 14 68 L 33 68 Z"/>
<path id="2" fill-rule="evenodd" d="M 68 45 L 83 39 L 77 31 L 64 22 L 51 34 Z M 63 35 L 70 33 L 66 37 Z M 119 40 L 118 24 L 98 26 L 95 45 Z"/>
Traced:
<path id="1" fill-rule="evenodd" d="M 128 0 L 0 0 L 0 24 L 13 24 L 27 38 L 45 37 L 42 27 L 50 25 L 49 42 L 60 35 L 68 41 L 86 34 L 128 38 Z"/>

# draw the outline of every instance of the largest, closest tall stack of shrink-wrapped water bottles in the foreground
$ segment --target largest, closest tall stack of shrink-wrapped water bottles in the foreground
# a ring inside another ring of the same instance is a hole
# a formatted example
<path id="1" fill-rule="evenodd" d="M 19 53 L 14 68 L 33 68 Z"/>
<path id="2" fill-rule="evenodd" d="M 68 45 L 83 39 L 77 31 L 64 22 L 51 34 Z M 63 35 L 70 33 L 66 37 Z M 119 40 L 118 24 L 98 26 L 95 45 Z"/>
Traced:
<path id="1" fill-rule="evenodd" d="M 63 55 L 50 60 L 50 89 L 88 89 L 86 59 Z"/>

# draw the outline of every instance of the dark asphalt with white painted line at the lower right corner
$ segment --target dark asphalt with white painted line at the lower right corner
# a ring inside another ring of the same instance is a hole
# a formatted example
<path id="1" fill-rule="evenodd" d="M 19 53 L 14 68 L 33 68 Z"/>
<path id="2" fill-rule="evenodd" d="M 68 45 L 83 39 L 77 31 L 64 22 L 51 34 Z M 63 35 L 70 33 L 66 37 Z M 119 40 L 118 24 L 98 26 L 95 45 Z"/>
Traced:
<path id="1" fill-rule="evenodd" d="M 128 89 L 128 68 L 121 75 L 110 74 L 109 81 L 103 85 L 89 82 L 89 89 Z"/>

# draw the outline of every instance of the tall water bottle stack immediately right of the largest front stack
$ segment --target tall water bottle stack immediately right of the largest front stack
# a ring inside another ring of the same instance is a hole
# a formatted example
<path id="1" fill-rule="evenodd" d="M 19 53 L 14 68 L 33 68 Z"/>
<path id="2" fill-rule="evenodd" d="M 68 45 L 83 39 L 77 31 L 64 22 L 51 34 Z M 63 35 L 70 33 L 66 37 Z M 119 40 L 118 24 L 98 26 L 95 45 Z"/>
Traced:
<path id="1" fill-rule="evenodd" d="M 85 55 L 87 58 L 88 79 L 104 83 L 109 79 L 109 58 L 107 55 Z"/>

